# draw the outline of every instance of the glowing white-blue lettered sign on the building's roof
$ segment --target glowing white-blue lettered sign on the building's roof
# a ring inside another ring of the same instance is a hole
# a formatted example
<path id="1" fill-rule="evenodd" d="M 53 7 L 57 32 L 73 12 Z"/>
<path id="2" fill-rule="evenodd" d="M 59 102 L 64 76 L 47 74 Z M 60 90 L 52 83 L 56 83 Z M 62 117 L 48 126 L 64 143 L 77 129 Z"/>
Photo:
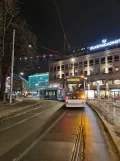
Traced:
<path id="1" fill-rule="evenodd" d="M 101 44 L 91 46 L 90 50 L 95 50 L 95 49 L 103 48 L 103 47 L 106 47 L 106 46 L 112 46 L 112 45 L 119 44 L 119 43 L 120 43 L 120 39 L 117 39 L 117 40 L 114 40 L 114 41 L 109 41 L 109 42 L 107 42 L 107 40 L 104 39 L 104 40 L 102 40 Z"/>

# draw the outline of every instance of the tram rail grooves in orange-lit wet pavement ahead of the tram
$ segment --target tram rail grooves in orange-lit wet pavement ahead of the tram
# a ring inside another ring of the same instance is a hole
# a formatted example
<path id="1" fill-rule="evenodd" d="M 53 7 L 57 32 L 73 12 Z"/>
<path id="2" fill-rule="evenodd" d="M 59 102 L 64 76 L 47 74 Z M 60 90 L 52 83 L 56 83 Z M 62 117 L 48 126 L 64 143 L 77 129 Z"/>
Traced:
<path id="1" fill-rule="evenodd" d="M 82 114 L 81 123 L 79 126 L 79 132 L 77 134 L 77 138 L 75 141 L 71 161 L 83 161 L 84 160 L 84 149 L 85 149 L 85 135 L 84 135 L 83 114 Z"/>

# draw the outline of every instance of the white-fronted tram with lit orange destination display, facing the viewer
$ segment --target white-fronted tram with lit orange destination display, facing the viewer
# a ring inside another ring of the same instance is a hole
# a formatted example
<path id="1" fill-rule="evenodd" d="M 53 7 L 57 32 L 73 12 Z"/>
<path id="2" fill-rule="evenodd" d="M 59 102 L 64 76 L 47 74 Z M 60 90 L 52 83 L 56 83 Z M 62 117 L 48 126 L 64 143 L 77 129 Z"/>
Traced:
<path id="1" fill-rule="evenodd" d="M 66 107 L 85 107 L 85 80 L 84 77 L 67 77 L 65 80 Z"/>

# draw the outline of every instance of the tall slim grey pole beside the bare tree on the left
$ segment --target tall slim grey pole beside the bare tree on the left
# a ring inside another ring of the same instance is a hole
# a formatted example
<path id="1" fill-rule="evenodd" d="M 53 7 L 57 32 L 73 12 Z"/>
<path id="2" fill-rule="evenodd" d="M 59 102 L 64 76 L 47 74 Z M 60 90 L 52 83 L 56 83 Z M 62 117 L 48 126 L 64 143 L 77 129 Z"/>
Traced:
<path id="1" fill-rule="evenodd" d="M 9 100 L 10 103 L 12 103 L 12 93 L 13 93 L 14 47 L 15 47 L 15 30 L 13 30 L 12 57 L 11 57 L 10 100 Z"/>

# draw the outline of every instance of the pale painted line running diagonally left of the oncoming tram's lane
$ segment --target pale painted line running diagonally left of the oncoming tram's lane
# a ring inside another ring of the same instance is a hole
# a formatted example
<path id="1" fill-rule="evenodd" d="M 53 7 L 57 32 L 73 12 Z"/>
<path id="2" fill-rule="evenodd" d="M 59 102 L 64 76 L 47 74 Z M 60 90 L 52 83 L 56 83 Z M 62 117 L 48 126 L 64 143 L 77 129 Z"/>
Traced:
<path id="1" fill-rule="evenodd" d="M 65 115 L 66 111 L 42 134 L 36 141 L 34 141 L 18 158 L 15 158 L 15 161 L 20 161 Z"/>

